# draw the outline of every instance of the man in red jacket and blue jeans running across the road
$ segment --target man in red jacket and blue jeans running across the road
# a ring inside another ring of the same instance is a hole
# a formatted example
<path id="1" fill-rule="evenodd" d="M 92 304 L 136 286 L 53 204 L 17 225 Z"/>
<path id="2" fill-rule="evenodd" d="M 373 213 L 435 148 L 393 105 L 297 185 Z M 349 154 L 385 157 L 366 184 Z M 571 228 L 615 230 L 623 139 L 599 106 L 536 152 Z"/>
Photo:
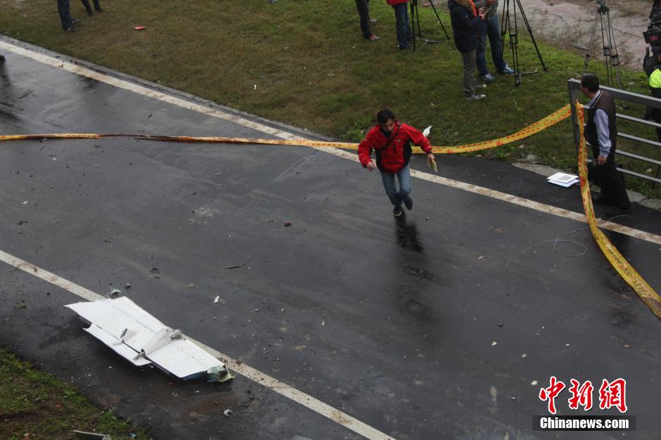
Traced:
<path id="1" fill-rule="evenodd" d="M 395 119 L 390 109 L 381 110 L 376 115 L 378 124 L 371 129 L 358 145 L 360 163 L 372 171 L 378 168 L 383 180 L 383 188 L 394 206 L 392 214 L 402 215 L 402 202 L 406 209 L 413 209 L 411 193 L 411 142 L 421 147 L 430 160 L 434 160 L 432 148 L 425 135 L 410 125 Z M 372 160 L 372 150 L 376 152 L 376 163 Z M 394 176 L 399 180 L 399 191 L 394 184 Z"/>

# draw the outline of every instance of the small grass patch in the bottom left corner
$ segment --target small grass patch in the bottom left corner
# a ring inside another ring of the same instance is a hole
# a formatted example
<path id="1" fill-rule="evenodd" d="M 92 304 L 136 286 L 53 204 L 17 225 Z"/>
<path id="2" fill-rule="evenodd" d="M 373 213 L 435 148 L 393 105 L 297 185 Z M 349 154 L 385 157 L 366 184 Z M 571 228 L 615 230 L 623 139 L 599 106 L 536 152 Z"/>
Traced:
<path id="1" fill-rule="evenodd" d="M 150 438 L 144 429 L 134 429 L 54 375 L 0 348 L 0 438 L 70 439 L 74 429 L 113 439 Z"/>

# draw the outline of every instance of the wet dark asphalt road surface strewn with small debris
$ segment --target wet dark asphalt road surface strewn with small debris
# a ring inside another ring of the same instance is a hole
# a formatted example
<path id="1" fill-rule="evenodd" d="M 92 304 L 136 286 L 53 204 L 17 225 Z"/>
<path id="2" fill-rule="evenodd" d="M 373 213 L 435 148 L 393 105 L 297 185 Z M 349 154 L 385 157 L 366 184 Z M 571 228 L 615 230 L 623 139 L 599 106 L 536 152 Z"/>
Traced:
<path id="1" fill-rule="evenodd" d="M 5 55 L 0 134 L 268 137 Z M 509 164 L 438 162 L 442 176 L 581 212 L 577 188 Z M 167 325 L 397 439 L 594 438 L 532 432 L 551 375 L 597 388 L 624 377 L 638 423 L 624 438 L 661 436 L 658 318 L 589 231 L 568 238 L 581 257 L 548 242 L 520 255 L 585 224 L 416 179 L 412 195 L 397 221 L 378 174 L 308 148 L 4 143 L 0 249 L 101 294 L 129 282 L 125 295 Z M 661 233 L 660 213 L 634 208 L 626 224 Z M 607 235 L 661 290 L 660 246 Z M 0 264 L 0 344 L 156 438 L 359 438 L 240 376 L 134 368 L 63 308 L 79 300 Z M 567 398 L 560 414 L 575 413 Z"/>

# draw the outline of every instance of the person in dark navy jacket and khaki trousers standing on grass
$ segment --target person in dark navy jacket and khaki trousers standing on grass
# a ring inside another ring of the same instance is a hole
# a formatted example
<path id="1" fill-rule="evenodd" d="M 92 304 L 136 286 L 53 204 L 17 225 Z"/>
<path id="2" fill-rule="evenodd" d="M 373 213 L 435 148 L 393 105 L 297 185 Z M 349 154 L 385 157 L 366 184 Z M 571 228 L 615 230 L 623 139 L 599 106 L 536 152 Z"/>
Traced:
<path id="1" fill-rule="evenodd" d="M 449 0 L 450 21 L 454 31 L 454 45 L 463 59 L 463 93 L 466 99 L 477 101 L 486 95 L 475 93 L 475 51 L 480 23 L 484 21 L 483 9 L 477 11 L 473 0 Z"/>

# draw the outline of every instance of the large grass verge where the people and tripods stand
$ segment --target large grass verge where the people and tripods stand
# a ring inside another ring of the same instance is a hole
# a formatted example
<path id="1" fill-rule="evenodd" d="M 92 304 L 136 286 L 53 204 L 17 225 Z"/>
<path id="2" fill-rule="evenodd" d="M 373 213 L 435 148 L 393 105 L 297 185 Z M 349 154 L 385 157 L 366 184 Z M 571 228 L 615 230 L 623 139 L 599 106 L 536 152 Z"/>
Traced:
<path id="1" fill-rule="evenodd" d="M 443 2 L 437 3 L 450 30 L 447 10 Z M 377 110 L 384 107 L 416 127 L 432 125 L 433 145 L 511 134 L 565 105 L 567 79 L 578 77 L 583 67 L 579 51 L 541 43 L 548 72 L 525 76 L 519 87 L 511 77 L 499 77 L 489 85 L 486 100 L 467 103 L 461 86 L 461 57 L 454 44 L 425 46 L 415 53 L 398 51 L 394 13 L 385 2 L 371 4 L 371 15 L 378 19 L 373 31 L 381 37 L 376 42 L 361 38 L 352 0 L 280 0 L 277 4 L 266 0 L 113 0 L 103 5 L 105 13 L 92 18 L 84 16 L 77 2 L 71 6 L 72 14 L 82 18 L 75 34 L 62 32 L 55 6 L 0 0 L 0 32 L 346 141 L 359 141 Z M 423 33 L 439 37 L 441 30 L 432 11 L 421 7 L 420 14 Z M 147 30 L 136 32 L 136 25 Z M 533 29 L 536 25 L 532 23 Z M 523 71 L 541 70 L 525 28 L 520 29 L 519 53 Z M 511 59 L 507 48 L 506 59 Z M 591 70 L 605 77 L 602 63 L 594 60 Z M 624 75 L 629 90 L 648 93 L 643 73 Z M 629 109 L 638 116 L 642 111 Z M 636 133 L 656 138 L 652 129 L 636 128 Z M 661 157 L 658 148 L 624 142 L 621 147 Z M 513 161 L 529 153 L 544 164 L 570 169 L 575 164 L 570 122 L 483 155 Z M 639 162 L 623 162 L 638 172 L 656 172 Z M 660 188 L 638 179 L 629 179 L 627 184 L 661 196 Z"/>

